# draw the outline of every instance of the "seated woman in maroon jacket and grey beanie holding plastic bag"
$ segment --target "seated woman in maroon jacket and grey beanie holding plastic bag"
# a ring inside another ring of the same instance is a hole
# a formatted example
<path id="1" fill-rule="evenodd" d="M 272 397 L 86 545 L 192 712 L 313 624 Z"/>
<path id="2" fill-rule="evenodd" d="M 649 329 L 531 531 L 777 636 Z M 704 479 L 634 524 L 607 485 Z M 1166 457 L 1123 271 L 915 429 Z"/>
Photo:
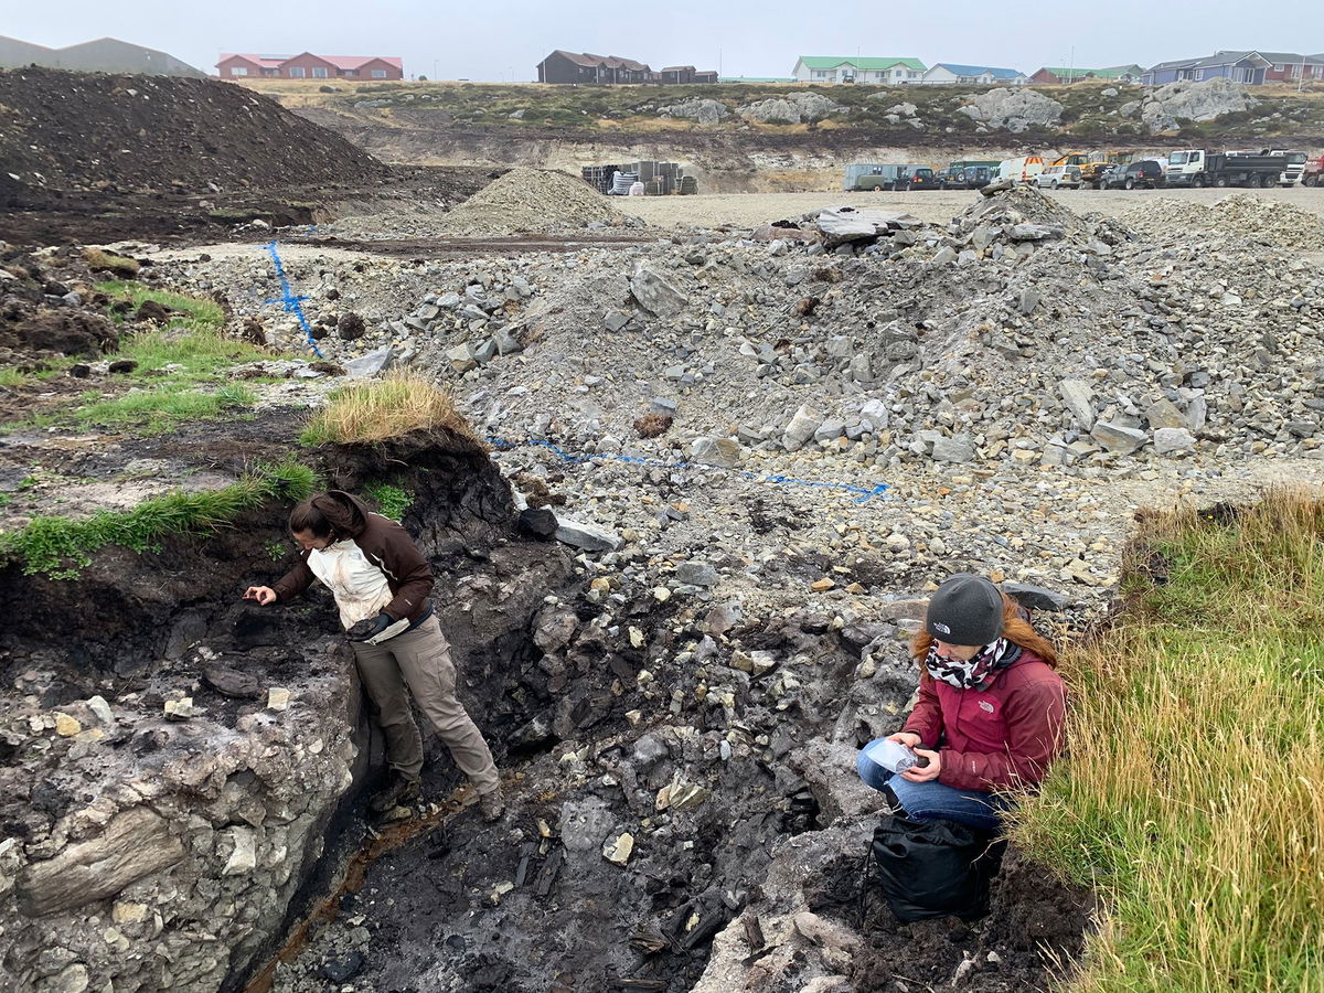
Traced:
<path id="1" fill-rule="evenodd" d="M 859 775 L 907 816 L 996 830 L 1008 790 L 1038 785 L 1062 744 L 1066 688 L 1057 653 L 1025 612 L 980 576 L 956 575 L 933 593 L 911 654 L 919 702 L 904 728 L 859 753 Z M 927 764 L 890 773 L 882 741 Z"/>

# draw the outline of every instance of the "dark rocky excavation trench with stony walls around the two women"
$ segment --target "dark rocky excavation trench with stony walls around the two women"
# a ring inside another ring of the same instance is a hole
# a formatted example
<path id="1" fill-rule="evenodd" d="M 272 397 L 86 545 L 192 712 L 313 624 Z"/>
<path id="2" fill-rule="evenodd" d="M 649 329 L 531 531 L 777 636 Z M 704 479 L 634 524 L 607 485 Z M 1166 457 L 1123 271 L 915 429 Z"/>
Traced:
<path id="1" fill-rule="evenodd" d="M 228 449 L 189 430 L 130 454 L 171 463 L 211 442 L 213 471 L 278 454 L 262 425 L 229 425 Z M 854 752 L 915 679 L 895 630 L 802 612 L 718 643 L 699 634 L 711 604 L 643 584 L 594 601 L 588 560 L 523 536 L 494 465 L 455 438 L 318 469 L 412 494 L 404 523 L 510 812 L 487 825 L 465 808 L 425 733 L 424 802 L 365 821 L 380 745 L 330 598 L 238 598 L 287 568 L 286 506 L 207 540 L 107 548 L 73 581 L 11 565 L 0 961 L 20 988 L 865 990 L 964 968 L 965 989 L 1034 989 L 1079 952 L 1087 902 L 1016 858 L 974 925 L 899 925 L 863 883 L 876 797 Z M 858 679 L 888 638 L 895 659 Z M 780 662 L 751 675 L 736 645 Z M 162 716 L 184 696 L 192 716 Z M 78 730 L 46 727 L 57 714 Z M 805 912 L 857 937 L 806 937 Z"/>

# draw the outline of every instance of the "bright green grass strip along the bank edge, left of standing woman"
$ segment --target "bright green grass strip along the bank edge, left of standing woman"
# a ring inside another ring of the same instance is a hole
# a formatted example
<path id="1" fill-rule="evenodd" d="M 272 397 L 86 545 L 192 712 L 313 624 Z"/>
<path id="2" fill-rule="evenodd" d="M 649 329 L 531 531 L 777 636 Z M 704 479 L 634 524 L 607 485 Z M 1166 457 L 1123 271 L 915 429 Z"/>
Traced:
<path id="1" fill-rule="evenodd" d="M 301 500 L 316 487 L 316 473 L 299 462 L 260 465 L 221 490 L 183 490 L 146 500 L 130 511 L 98 511 L 74 520 L 37 516 L 20 531 L 0 534 L 0 556 L 23 563 L 25 575 L 75 579 L 107 544 L 134 552 L 159 548 L 168 535 L 201 535 L 270 500 Z"/>

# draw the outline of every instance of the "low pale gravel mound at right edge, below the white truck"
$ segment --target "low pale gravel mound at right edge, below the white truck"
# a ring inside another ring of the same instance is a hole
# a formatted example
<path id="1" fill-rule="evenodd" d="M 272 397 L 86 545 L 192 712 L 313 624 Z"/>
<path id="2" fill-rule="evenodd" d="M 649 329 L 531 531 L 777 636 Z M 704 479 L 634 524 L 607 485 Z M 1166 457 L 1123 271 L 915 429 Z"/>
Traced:
<path id="1" fill-rule="evenodd" d="M 1324 242 L 1324 218 L 1317 213 L 1254 193 L 1233 193 L 1211 207 L 1162 199 L 1131 211 L 1123 220 L 1152 238 L 1177 232 L 1221 230 L 1278 248 L 1315 249 Z"/>

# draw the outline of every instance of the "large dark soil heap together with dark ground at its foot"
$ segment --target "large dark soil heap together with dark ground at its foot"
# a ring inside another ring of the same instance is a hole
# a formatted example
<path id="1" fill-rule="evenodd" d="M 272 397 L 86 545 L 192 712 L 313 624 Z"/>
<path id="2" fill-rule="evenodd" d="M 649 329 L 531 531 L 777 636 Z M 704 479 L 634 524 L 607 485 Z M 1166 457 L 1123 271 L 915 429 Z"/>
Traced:
<path id="1" fill-rule="evenodd" d="M 180 241 L 326 220 L 342 201 L 453 205 L 491 169 L 395 168 L 238 86 L 0 71 L 0 240 Z"/>

